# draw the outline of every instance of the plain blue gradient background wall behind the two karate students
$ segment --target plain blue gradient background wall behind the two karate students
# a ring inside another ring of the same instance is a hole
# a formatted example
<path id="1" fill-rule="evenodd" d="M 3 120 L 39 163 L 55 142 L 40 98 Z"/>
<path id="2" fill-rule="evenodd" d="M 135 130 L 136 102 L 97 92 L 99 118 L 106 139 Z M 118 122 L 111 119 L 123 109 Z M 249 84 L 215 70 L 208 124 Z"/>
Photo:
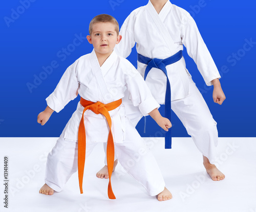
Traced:
<path id="1" fill-rule="evenodd" d="M 245 39 L 256 42 L 255 1 L 171 2 L 194 17 L 221 72 L 221 84 L 227 99 L 220 106 L 212 101 L 212 86 L 205 86 L 196 64 L 183 51 L 187 68 L 218 123 L 219 136 L 255 137 L 256 44 L 246 45 L 246 51 L 243 50 Z M 92 51 L 92 45 L 84 38 L 72 48 L 76 35 L 86 37 L 90 20 L 98 14 L 113 15 L 121 26 L 132 10 L 146 4 L 146 0 L 4 1 L 0 9 L 0 136 L 58 137 L 76 109 L 79 98 L 59 113 L 53 113 L 45 126 L 37 123 L 37 114 L 47 106 L 45 99 L 66 68 Z M 67 47 L 66 54 L 60 53 Z M 239 56 L 234 59 L 232 54 L 237 53 Z M 136 66 L 135 48 L 128 59 Z M 52 68 L 52 73 L 44 74 L 43 66 L 51 65 L 52 61 L 56 61 L 58 67 Z M 225 72 L 222 71 L 224 65 L 228 68 Z M 34 84 L 34 79 L 39 76 L 42 80 L 29 90 L 27 84 Z M 164 106 L 162 112 L 163 109 Z M 173 136 L 188 136 L 174 113 L 172 123 Z M 160 130 L 151 119 L 147 119 L 146 134 L 143 133 L 142 120 L 137 129 L 142 136 L 158 136 L 156 132 Z"/>

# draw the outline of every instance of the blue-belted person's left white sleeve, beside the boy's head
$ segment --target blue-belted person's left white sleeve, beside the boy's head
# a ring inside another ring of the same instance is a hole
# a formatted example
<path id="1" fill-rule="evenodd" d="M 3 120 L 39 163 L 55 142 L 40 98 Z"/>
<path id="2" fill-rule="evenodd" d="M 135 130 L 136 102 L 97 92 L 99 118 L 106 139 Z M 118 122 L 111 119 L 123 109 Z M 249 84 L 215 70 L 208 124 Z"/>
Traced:
<path id="1" fill-rule="evenodd" d="M 131 54 L 132 48 L 135 45 L 134 20 L 131 15 L 123 22 L 119 35 L 122 36 L 122 39 L 116 44 L 115 52 L 117 55 L 126 58 Z"/>

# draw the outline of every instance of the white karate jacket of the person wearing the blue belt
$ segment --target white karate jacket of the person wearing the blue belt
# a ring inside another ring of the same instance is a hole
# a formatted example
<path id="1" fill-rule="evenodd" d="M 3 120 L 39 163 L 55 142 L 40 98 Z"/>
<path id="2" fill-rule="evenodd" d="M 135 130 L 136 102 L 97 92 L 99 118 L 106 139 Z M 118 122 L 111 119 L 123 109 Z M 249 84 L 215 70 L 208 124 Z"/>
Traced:
<path id="1" fill-rule="evenodd" d="M 183 44 L 188 55 L 194 59 L 205 83 L 220 78 L 194 19 L 184 9 L 166 2 L 158 14 L 149 1 L 147 5 L 135 9 L 124 21 L 120 35 L 122 40 L 116 45 L 118 55 L 126 58 L 136 44 L 137 52 L 148 58 L 168 58 L 180 50 Z M 146 65 L 138 62 L 138 72 L 144 77 Z M 188 75 L 185 60 L 166 66 L 172 101 L 188 95 Z M 146 83 L 159 104 L 165 102 L 166 76 L 157 68 L 152 68 Z"/>

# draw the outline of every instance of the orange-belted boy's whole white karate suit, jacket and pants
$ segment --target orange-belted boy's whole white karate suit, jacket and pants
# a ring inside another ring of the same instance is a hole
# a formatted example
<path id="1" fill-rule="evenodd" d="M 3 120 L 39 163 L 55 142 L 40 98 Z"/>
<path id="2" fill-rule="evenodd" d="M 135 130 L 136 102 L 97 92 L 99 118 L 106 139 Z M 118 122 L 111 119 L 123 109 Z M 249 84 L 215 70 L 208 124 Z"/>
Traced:
<path id="1" fill-rule="evenodd" d="M 128 60 L 117 56 L 113 51 L 100 67 L 93 50 L 91 54 L 81 56 L 68 67 L 56 89 L 46 100 L 51 109 L 59 112 L 77 97 L 77 90 L 85 100 L 108 104 L 123 98 L 126 87 L 131 93 L 133 104 L 138 106 L 143 115 L 159 107 L 146 83 Z M 57 192 L 62 190 L 70 176 L 77 171 L 78 126 L 83 108 L 79 102 L 47 158 L 45 182 Z M 159 194 L 164 190 L 165 183 L 158 164 L 135 127 L 125 117 L 124 106 L 121 104 L 109 113 L 112 119 L 115 154 L 120 164 L 145 187 L 148 194 Z M 84 126 L 88 157 L 98 142 L 107 142 L 109 126 L 102 114 L 95 114 L 91 110 L 84 113 Z M 138 154 L 140 159 L 136 160 L 132 167 L 129 166 L 129 161 Z"/>

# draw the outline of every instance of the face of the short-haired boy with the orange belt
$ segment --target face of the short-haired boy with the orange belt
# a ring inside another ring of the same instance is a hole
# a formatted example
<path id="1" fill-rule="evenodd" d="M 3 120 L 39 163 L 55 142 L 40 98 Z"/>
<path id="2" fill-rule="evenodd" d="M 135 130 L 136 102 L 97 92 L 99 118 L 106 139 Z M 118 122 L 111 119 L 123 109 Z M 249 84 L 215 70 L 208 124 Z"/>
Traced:
<path id="1" fill-rule="evenodd" d="M 91 35 L 87 36 L 89 43 L 93 44 L 96 55 L 100 57 L 109 57 L 121 38 L 121 35 L 117 35 L 114 23 L 111 22 L 94 23 Z"/>

